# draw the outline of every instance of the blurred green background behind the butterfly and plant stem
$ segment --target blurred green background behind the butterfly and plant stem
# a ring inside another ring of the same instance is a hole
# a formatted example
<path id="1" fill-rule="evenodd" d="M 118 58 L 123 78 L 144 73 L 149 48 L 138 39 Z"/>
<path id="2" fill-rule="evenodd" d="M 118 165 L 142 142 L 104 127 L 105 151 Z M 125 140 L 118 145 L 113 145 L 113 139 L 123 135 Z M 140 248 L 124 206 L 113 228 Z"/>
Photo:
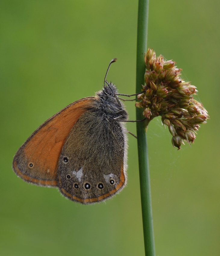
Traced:
<path id="1" fill-rule="evenodd" d="M 220 255 L 220 2 L 150 1 L 148 47 L 182 68 L 209 111 L 195 144 L 172 147 L 168 129 L 148 129 L 156 255 Z M 94 205 L 23 182 L 17 149 L 45 120 L 108 80 L 135 92 L 138 1 L 0 2 L 0 255 L 144 255 L 136 139 L 128 185 Z M 134 103 L 128 102 L 130 119 Z M 135 124 L 128 129 L 135 133 Z"/>

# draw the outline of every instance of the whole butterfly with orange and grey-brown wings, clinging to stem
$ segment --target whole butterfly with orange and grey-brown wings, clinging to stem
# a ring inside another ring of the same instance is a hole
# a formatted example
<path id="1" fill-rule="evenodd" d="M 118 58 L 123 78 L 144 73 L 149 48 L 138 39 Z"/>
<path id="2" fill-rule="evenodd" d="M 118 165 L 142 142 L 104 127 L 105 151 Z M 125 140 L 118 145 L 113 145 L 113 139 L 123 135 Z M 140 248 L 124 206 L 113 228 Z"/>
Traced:
<path id="1" fill-rule="evenodd" d="M 58 187 L 82 204 L 104 201 L 125 187 L 128 113 L 117 97 L 122 94 L 106 81 L 109 67 L 101 91 L 68 105 L 24 142 L 13 160 L 17 176 Z"/>

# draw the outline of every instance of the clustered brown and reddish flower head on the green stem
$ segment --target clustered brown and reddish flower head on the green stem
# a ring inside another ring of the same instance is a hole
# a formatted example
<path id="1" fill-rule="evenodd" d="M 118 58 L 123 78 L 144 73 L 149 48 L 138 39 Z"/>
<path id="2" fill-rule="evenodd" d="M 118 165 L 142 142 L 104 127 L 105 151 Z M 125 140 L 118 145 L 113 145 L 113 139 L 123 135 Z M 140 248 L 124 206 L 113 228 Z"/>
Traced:
<path id="1" fill-rule="evenodd" d="M 181 69 L 174 61 L 164 61 L 162 55 L 156 57 L 153 49 L 148 48 L 144 61 L 146 85 L 135 106 L 143 108 L 143 115 L 149 120 L 161 116 L 163 124 L 169 127 L 174 147 L 180 149 L 184 140 L 193 143 L 199 125 L 206 123 L 209 116 L 193 98 L 196 87 L 181 79 Z"/>

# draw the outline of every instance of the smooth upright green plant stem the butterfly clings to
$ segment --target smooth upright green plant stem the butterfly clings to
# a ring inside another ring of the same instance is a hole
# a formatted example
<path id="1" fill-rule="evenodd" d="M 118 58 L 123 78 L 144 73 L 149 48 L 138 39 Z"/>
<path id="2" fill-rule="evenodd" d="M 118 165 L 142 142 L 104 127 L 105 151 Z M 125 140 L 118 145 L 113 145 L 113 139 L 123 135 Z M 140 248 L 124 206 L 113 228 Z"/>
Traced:
<path id="1" fill-rule="evenodd" d="M 138 2 L 138 35 L 137 35 L 137 66 L 136 66 L 136 93 L 144 85 L 144 52 L 147 51 L 147 23 L 149 0 Z M 137 120 L 143 119 L 143 109 L 136 108 Z M 149 121 L 137 122 L 138 160 L 141 189 L 141 208 L 144 230 L 144 248 L 146 256 L 155 256 L 153 215 L 150 192 L 150 172 L 147 152 L 146 128 Z"/>

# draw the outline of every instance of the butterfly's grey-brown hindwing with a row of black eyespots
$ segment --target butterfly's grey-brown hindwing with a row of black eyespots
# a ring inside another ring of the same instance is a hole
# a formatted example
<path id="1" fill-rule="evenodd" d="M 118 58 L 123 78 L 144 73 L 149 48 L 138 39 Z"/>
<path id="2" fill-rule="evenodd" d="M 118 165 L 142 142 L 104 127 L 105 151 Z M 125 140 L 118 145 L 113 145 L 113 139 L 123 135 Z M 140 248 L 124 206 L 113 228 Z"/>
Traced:
<path id="1" fill-rule="evenodd" d="M 73 126 L 58 165 L 58 186 L 67 198 L 83 204 L 102 201 L 125 185 L 125 133 L 116 120 L 92 108 Z"/>

